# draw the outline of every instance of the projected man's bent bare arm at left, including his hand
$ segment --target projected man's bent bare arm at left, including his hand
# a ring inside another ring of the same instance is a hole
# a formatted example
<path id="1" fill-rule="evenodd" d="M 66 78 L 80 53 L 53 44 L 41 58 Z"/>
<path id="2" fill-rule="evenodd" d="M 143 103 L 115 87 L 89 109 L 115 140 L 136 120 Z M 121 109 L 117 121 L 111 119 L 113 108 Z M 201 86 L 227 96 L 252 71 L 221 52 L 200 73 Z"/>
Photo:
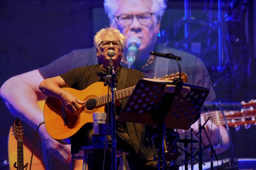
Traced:
<path id="1" fill-rule="evenodd" d="M 46 99 L 46 96 L 38 89 L 43 77 L 38 70 L 33 70 L 8 79 L 0 88 L 0 95 L 15 117 L 36 129 L 44 120 L 43 111 L 37 101 Z M 65 161 L 70 156 L 70 145 L 62 145 L 50 137 L 45 126 L 40 126 L 39 134 L 46 141 L 47 148 L 59 160 Z"/>

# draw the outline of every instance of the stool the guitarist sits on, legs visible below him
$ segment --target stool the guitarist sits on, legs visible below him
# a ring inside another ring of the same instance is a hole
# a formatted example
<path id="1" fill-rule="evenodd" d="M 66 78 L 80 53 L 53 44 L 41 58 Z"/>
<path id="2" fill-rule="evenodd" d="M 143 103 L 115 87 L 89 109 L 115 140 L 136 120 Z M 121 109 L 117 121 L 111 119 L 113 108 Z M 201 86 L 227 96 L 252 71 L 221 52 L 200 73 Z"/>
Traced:
<path id="1" fill-rule="evenodd" d="M 89 150 L 94 149 L 93 145 L 89 146 L 82 146 L 82 149 L 80 150 L 78 154 L 71 154 L 71 165 L 70 170 L 74 170 L 75 166 L 75 160 L 83 160 L 83 168 L 82 170 L 86 170 L 87 168 L 87 158 L 89 155 Z M 126 170 L 126 152 L 117 150 L 116 157 L 119 158 L 121 169 Z"/>

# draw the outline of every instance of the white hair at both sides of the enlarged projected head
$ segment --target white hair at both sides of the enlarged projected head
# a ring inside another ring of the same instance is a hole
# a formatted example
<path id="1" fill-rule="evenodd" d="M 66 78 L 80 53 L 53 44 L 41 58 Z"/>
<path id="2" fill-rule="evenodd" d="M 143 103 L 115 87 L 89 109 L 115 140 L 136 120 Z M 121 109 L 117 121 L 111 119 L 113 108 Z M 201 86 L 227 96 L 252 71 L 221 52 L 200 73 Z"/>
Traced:
<path id="1" fill-rule="evenodd" d="M 115 19 L 115 13 L 118 10 L 118 6 L 121 0 L 104 0 L 105 12 L 108 15 L 110 21 Z M 138 0 L 139 1 L 139 0 Z M 166 9 L 166 0 L 148 0 L 151 2 L 151 9 L 156 13 L 156 16 L 161 20 L 163 13 Z"/>

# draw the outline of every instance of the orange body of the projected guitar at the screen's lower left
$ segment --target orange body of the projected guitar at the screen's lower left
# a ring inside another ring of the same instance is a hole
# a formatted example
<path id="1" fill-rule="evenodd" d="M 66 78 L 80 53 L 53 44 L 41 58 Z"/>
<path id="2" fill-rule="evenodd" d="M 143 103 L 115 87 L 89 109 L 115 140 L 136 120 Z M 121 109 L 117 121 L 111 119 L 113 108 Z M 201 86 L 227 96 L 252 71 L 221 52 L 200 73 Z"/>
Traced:
<path id="1" fill-rule="evenodd" d="M 45 100 L 39 100 L 37 102 L 38 106 L 43 110 Z M 32 146 L 33 146 L 33 139 L 35 135 L 35 130 L 31 128 L 26 122 L 22 124 L 23 128 L 25 129 L 26 135 L 23 136 L 23 155 L 24 161 L 30 162 L 31 154 L 32 154 Z M 42 125 L 43 126 L 43 125 Z M 13 137 L 12 132 L 13 127 L 10 128 L 9 137 L 8 137 L 8 159 L 9 159 L 9 168 L 10 170 L 16 170 L 13 164 L 17 161 L 17 141 Z M 36 136 L 36 143 L 34 147 L 34 154 L 32 160 L 32 169 L 40 169 L 40 170 L 54 170 L 54 169 L 61 169 L 61 170 L 69 170 L 71 156 L 68 158 L 67 161 L 62 162 L 55 159 L 47 149 L 47 144 L 44 143 L 40 135 L 37 134 Z M 75 160 L 75 170 L 82 169 L 83 160 Z"/>

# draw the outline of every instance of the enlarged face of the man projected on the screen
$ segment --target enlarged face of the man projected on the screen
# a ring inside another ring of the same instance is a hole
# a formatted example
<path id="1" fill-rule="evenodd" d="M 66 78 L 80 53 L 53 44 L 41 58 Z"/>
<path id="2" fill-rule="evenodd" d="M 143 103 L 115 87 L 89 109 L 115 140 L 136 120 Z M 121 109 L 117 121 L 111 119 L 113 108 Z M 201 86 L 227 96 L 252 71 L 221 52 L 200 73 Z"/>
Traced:
<path id="1" fill-rule="evenodd" d="M 126 41 L 131 36 L 139 37 L 141 46 L 138 52 L 152 50 L 157 41 L 160 27 L 155 11 L 151 9 L 152 4 L 147 0 L 129 0 L 119 2 L 118 5 L 119 9 L 115 13 L 115 21 L 111 23 L 111 26 L 119 29 Z M 127 45 L 126 43 L 126 47 Z"/>

